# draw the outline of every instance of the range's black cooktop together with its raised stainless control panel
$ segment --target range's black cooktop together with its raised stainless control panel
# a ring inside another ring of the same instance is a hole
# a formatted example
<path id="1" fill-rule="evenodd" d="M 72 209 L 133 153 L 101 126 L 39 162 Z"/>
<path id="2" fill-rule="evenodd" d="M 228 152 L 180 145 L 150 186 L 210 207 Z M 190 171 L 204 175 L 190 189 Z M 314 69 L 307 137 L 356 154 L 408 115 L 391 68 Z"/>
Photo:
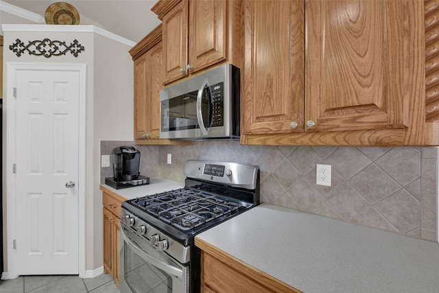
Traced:
<path id="1" fill-rule="evenodd" d="M 121 216 L 132 218 L 133 231 L 147 224 L 189 246 L 197 233 L 259 204 L 257 166 L 187 161 L 185 175 L 191 177 L 182 189 L 122 203 Z"/>

